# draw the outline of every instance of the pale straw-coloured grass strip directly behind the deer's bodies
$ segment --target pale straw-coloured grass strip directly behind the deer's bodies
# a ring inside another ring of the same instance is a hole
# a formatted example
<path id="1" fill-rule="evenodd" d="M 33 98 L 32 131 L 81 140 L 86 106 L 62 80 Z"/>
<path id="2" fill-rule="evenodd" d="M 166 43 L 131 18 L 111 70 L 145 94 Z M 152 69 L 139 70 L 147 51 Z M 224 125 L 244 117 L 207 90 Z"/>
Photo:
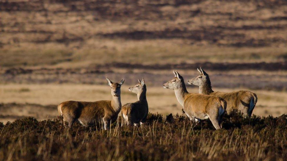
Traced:
<path id="1" fill-rule="evenodd" d="M 128 85 L 121 87 L 122 104 L 137 101 L 136 94 L 128 91 Z M 216 91 L 236 91 L 239 89 L 220 89 Z M 198 93 L 197 88 L 188 88 L 189 92 Z M 287 113 L 286 91 L 252 90 L 258 96 L 258 102 L 253 111 L 258 116 L 280 116 Z M 88 84 L 1 84 L 1 102 L 9 105 L 0 110 L 3 116 L 34 116 L 38 119 L 55 118 L 59 115 L 56 106 L 63 101 L 98 101 L 111 99 L 110 88 L 107 85 Z M 182 106 L 178 103 L 173 90 L 161 87 L 148 87 L 147 100 L 150 112 L 182 113 Z M 17 105 L 19 104 L 19 105 Z M 21 106 L 21 104 L 24 104 Z M 29 105 L 32 104 L 32 105 Z M 53 105 L 46 108 L 47 105 Z M 37 110 L 33 110 L 37 109 Z M 13 120 L 9 117 L 1 118 L 4 123 Z"/>

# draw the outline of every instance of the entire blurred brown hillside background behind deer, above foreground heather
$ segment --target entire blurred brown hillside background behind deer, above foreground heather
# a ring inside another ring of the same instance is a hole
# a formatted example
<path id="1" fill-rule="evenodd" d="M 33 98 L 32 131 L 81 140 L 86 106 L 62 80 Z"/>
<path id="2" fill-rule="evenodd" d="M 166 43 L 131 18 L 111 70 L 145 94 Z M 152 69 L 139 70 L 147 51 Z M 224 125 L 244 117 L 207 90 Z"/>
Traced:
<path id="1" fill-rule="evenodd" d="M 151 112 L 181 113 L 162 84 L 198 67 L 215 91 L 255 92 L 255 114 L 286 113 L 287 1 L 0 0 L 0 121 L 110 99 L 105 77 L 126 78 L 123 104 L 144 77 Z"/>

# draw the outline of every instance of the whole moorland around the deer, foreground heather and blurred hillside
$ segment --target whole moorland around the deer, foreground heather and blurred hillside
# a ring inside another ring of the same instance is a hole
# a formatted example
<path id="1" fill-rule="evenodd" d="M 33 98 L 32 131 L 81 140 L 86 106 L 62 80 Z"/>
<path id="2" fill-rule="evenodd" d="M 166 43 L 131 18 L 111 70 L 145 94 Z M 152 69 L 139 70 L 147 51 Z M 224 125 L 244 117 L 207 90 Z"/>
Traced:
<path id="1" fill-rule="evenodd" d="M 162 85 L 198 67 L 253 116 L 189 121 Z M 144 77 L 147 122 L 65 128 L 57 105 L 111 99 L 105 77 L 122 104 Z M 0 160 L 285 160 L 286 113 L 286 0 L 0 0 Z"/>

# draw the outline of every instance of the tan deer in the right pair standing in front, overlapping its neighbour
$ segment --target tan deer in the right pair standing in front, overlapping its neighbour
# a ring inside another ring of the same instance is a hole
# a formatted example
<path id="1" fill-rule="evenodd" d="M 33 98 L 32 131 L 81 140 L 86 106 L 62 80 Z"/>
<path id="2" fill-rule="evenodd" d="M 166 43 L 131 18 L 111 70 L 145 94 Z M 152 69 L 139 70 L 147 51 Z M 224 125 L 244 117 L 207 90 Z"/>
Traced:
<path id="1" fill-rule="evenodd" d="M 165 89 L 173 89 L 178 102 L 190 120 L 200 121 L 210 119 L 214 128 L 221 129 L 222 116 L 226 102 L 217 96 L 188 93 L 183 77 L 173 71 L 174 78 L 163 84 Z"/>

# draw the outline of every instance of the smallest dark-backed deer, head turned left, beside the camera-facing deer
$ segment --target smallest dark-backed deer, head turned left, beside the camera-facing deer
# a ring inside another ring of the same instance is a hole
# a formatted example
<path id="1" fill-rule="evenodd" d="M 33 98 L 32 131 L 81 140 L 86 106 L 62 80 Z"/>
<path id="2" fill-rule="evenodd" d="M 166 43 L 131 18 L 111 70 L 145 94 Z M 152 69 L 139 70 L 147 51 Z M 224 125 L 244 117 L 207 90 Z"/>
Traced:
<path id="1" fill-rule="evenodd" d="M 137 94 L 138 101 L 134 103 L 127 103 L 121 109 L 121 126 L 132 125 L 138 126 L 146 122 L 148 116 L 148 102 L 146 100 L 146 84 L 144 79 L 139 80 L 139 83 L 130 87 L 129 91 Z"/>

